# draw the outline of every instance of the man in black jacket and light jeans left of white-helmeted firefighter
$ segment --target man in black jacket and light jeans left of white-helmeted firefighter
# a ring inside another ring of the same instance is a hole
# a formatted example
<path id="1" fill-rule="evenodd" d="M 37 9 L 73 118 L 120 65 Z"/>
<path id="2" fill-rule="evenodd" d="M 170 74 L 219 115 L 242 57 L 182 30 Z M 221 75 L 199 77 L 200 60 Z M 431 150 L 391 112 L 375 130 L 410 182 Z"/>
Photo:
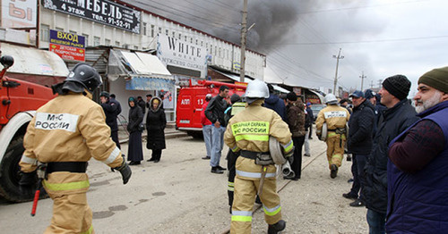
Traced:
<path id="1" fill-rule="evenodd" d="M 224 98 L 227 96 L 228 87 L 221 86 L 220 94 L 211 98 L 210 103 L 205 108 L 205 117 L 214 125 L 214 128 L 211 130 L 211 173 L 222 174 L 226 170 L 220 166 L 220 158 L 222 146 L 224 145 L 224 131 L 226 131 L 224 112 L 227 109 L 227 102 Z"/>

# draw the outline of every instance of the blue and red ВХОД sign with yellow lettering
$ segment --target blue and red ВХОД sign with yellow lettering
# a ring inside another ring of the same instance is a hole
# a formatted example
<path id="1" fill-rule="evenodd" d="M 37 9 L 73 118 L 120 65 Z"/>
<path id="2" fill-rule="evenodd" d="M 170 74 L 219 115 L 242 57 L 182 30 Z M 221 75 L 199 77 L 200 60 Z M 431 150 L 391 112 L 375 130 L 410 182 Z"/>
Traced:
<path id="1" fill-rule="evenodd" d="M 85 38 L 73 33 L 50 29 L 48 50 L 64 60 L 85 61 Z"/>

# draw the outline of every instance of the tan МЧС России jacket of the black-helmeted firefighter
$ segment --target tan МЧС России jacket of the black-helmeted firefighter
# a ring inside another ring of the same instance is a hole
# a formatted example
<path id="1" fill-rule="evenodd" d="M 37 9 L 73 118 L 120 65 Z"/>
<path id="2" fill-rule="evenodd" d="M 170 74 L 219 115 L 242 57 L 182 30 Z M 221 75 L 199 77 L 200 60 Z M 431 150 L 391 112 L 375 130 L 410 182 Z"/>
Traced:
<path id="1" fill-rule="evenodd" d="M 120 150 L 110 138 L 101 106 L 91 95 L 69 93 L 41 106 L 23 139 L 22 171 L 36 170 L 37 162 L 87 162 L 96 160 L 117 167 Z"/>

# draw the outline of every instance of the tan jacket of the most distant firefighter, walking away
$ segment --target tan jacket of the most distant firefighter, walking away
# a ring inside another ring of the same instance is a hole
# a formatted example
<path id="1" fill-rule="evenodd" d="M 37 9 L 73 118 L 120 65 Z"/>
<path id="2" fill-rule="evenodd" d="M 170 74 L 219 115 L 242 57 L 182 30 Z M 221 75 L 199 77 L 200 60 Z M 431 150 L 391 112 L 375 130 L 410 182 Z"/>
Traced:
<path id="1" fill-rule="evenodd" d="M 317 114 L 317 119 L 315 120 L 316 132 L 319 133 L 322 130 L 324 122 L 327 123 L 328 130 L 343 129 L 349 118 L 350 113 L 346 108 L 337 104 L 329 104 Z"/>

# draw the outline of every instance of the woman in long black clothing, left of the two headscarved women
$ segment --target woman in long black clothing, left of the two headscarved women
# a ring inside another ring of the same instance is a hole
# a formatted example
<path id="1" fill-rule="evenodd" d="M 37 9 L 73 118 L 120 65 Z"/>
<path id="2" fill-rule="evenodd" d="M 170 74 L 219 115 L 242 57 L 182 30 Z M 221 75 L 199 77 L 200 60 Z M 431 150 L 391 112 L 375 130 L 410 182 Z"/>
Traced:
<path id="1" fill-rule="evenodd" d="M 143 160 L 142 129 L 139 128 L 143 121 L 143 111 L 137 104 L 137 99 L 134 96 L 129 97 L 127 103 L 131 107 L 127 124 L 127 131 L 129 132 L 127 160 L 131 161 L 129 165 L 138 165 Z"/>

